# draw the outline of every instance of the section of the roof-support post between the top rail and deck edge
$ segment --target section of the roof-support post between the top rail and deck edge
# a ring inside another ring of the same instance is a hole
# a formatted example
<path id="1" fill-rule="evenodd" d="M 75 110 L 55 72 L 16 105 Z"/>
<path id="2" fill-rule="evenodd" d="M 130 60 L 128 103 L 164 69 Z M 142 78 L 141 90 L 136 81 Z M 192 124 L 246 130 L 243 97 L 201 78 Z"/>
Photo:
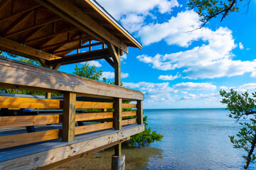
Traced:
<path id="1" fill-rule="evenodd" d="M 114 98 L 114 129 L 122 130 L 122 98 Z"/>

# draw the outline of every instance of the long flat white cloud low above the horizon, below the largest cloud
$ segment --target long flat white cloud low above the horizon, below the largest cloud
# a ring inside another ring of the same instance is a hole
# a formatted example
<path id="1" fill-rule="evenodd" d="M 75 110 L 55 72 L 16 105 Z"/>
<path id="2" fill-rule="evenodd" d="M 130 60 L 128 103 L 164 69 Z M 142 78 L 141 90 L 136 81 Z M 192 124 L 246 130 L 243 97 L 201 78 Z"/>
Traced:
<path id="1" fill-rule="evenodd" d="M 210 83 L 193 83 L 193 82 L 187 82 L 187 83 L 179 83 L 175 84 L 173 86 L 175 90 L 186 90 L 186 91 L 192 91 L 192 90 L 215 90 L 216 86 Z"/>

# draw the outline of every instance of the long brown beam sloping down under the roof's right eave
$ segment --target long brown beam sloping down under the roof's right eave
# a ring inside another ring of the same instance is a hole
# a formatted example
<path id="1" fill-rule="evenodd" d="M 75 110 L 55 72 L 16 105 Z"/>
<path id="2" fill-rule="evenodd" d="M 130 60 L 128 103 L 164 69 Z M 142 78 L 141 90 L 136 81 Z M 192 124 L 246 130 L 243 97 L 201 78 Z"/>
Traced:
<path id="1" fill-rule="evenodd" d="M 115 46 L 119 47 L 124 52 L 128 53 L 128 47 L 124 42 L 116 38 L 112 35 L 108 30 L 104 27 L 100 26 L 95 20 L 90 18 L 86 13 L 80 10 L 77 6 L 75 6 L 71 1 L 64 0 L 36 0 L 46 8 L 49 8 L 50 11 L 56 13 L 57 15 L 63 17 L 65 20 L 73 23 L 78 26 L 81 30 L 89 33 L 93 37 L 97 38 L 101 42 L 111 42 Z M 81 27 L 82 26 L 82 27 Z M 100 39 L 99 39 L 100 38 Z M 104 39 L 104 40 L 102 40 Z"/>

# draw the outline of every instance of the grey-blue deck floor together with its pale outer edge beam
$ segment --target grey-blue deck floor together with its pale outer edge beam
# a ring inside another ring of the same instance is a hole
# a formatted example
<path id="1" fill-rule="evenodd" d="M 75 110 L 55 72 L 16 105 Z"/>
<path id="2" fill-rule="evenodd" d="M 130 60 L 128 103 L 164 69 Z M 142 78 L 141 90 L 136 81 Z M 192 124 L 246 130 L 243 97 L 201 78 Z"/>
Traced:
<path id="1" fill-rule="evenodd" d="M 36 169 L 110 145 L 143 131 L 144 125 L 126 125 L 122 130 L 109 129 L 77 135 L 73 142 L 61 142 L 58 139 L 0 149 L 0 169 Z"/>

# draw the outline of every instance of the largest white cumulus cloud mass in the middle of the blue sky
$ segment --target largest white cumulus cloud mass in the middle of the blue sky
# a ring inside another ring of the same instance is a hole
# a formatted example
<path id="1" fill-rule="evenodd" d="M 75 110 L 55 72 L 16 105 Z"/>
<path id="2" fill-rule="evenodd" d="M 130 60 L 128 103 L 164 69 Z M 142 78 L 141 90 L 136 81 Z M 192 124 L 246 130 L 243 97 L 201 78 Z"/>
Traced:
<path id="1" fill-rule="evenodd" d="M 188 47 L 192 42 L 202 40 L 203 45 L 193 47 L 191 50 L 165 55 L 157 54 L 153 57 L 139 55 L 137 59 L 154 69 L 183 69 L 181 76 L 183 79 L 233 77 L 256 70 L 256 60 L 233 60 L 232 50 L 237 45 L 235 45 L 232 31 L 228 28 L 220 27 L 217 30 L 204 28 L 194 30 L 190 34 L 186 33 L 185 30 L 197 28 L 199 24 L 196 12 L 184 11 L 172 17 L 167 23 L 145 26 L 139 34 L 145 44 L 165 40 L 169 45 Z"/>

